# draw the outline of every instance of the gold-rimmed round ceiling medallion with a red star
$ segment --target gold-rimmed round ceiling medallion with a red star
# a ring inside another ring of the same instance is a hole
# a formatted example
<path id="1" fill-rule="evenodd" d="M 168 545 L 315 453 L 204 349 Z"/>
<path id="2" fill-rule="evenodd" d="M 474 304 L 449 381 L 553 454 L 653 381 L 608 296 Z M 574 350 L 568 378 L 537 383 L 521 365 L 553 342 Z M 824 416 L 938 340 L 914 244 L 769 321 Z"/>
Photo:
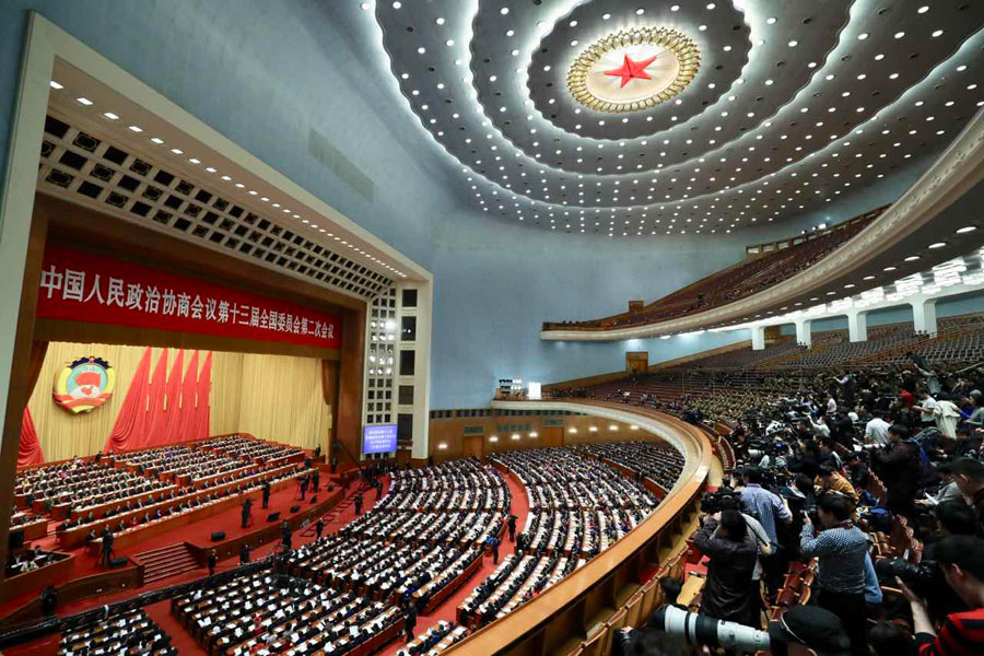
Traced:
<path id="1" fill-rule="evenodd" d="M 622 68 L 605 70 L 609 55 L 622 55 Z M 653 66 L 658 72 L 651 71 Z M 682 32 L 635 27 L 610 34 L 586 48 L 567 71 L 567 90 L 588 109 L 642 112 L 679 95 L 700 67 L 700 48 Z M 617 87 L 616 78 L 621 80 Z M 625 86 L 632 84 L 633 90 L 626 92 Z"/>

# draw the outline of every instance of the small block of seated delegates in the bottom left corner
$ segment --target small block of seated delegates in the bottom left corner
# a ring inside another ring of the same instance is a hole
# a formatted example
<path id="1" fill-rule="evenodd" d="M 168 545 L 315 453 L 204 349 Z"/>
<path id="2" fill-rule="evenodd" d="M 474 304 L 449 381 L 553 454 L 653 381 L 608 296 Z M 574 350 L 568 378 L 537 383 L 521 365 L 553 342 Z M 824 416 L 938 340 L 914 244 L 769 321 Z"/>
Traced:
<path id="1" fill-rule="evenodd" d="M 177 653 L 171 646 L 171 636 L 139 608 L 119 612 L 105 608 L 98 619 L 63 632 L 58 643 L 58 656 L 172 656 Z"/>

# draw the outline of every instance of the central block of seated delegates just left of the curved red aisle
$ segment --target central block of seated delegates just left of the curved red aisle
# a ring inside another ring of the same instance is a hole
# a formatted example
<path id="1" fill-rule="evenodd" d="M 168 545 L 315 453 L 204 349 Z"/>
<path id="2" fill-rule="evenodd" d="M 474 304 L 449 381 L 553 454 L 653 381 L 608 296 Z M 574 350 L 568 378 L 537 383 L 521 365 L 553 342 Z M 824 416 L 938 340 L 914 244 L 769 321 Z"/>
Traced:
<path id="1" fill-rule="evenodd" d="M 511 501 L 500 472 L 476 459 L 394 471 L 385 499 L 295 550 L 291 572 L 423 610 L 499 539 Z"/>

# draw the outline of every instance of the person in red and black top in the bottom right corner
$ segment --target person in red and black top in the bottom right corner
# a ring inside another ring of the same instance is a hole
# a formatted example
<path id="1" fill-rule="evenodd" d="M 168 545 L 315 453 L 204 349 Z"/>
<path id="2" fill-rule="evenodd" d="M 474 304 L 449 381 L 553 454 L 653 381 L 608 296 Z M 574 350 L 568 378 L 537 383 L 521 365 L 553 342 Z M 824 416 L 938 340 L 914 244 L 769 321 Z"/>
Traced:
<path id="1" fill-rule="evenodd" d="M 984 654 L 984 540 L 949 536 L 933 549 L 949 586 L 971 610 L 947 616 L 937 632 L 926 602 L 899 581 L 912 608 L 919 656 L 972 656 Z"/>

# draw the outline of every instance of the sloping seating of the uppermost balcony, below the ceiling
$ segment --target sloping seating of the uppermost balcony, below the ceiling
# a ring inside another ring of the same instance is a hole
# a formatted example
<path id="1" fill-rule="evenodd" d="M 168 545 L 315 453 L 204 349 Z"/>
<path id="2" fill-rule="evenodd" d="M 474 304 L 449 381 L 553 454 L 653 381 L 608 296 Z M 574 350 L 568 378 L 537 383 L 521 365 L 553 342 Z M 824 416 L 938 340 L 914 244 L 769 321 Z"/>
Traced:
<path id="1" fill-rule="evenodd" d="M 859 233 L 886 208 L 872 210 L 792 246 L 746 259 L 655 301 L 640 311 L 585 321 L 546 321 L 543 330 L 608 330 L 655 324 L 738 301 L 807 269 Z"/>

